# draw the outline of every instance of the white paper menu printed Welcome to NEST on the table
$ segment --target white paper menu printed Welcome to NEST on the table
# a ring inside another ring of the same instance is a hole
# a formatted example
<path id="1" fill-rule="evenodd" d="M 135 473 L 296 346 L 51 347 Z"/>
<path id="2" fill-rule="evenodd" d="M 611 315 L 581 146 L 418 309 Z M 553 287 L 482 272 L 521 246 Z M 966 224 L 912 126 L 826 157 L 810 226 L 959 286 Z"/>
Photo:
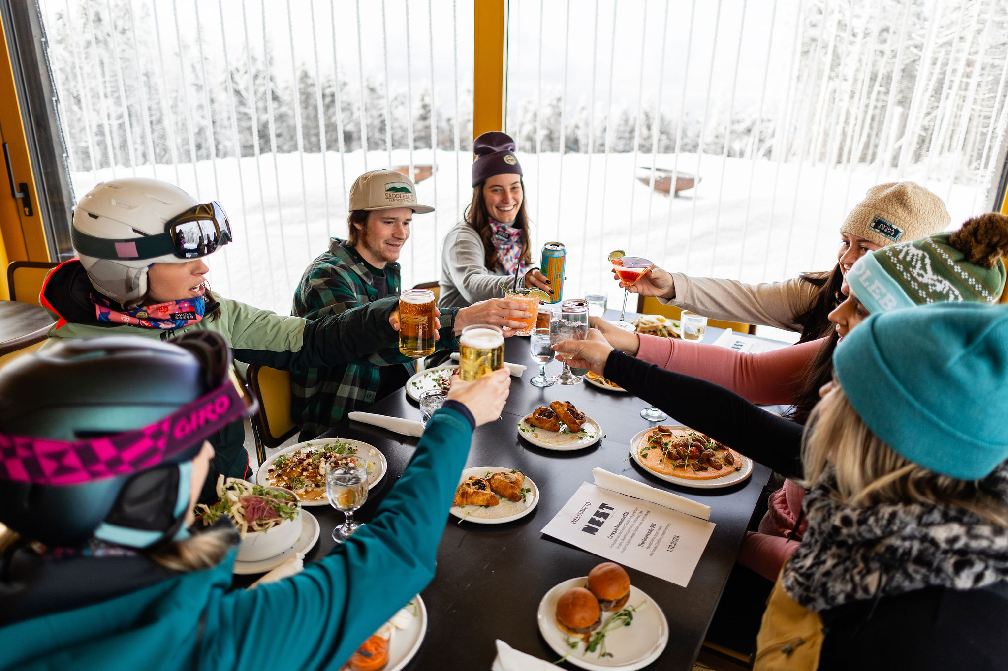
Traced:
<path id="1" fill-rule="evenodd" d="M 583 483 L 542 533 L 686 586 L 715 524 Z"/>

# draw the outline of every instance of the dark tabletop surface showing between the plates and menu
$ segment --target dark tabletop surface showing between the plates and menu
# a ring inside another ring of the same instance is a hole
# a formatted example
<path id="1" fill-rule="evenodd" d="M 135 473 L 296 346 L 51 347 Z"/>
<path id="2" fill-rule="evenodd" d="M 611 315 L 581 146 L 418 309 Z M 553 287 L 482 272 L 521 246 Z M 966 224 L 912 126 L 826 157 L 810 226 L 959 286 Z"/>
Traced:
<path id="1" fill-rule="evenodd" d="M 607 315 L 609 317 L 610 315 Z M 612 318 L 618 317 L 618 314 Z M 720 329 L 708 329 L 713 342 Z M 653 423 L 639 411 L 647 403 L 629 393 L 611 392 L 588 383 L 553 385 L 540 389 L 528 380 L 537 373 L 528 352 L 528 338 L 509 338 L 506 359 L 528 366 L 522 377 L 511 378 L 511 394 L 501 420 L 480 427 L 473 437 L 467 467 L 502 466 L 521 469 L 539 487 L 538 506 L 529 515 L 499 525 L 462 522 L 446 515 L 445 534 L 437 550 L 437 572 L 421 594 L 429 624 L 423 647 L 407 669 L 445 669 L 445 653 L 452 651 L 453 668 L 489 669 L 496 655 L 494 639 L 552 661 L 557 655 L 539 635 L 539 600 L 554 584 L 586 575 L 605 559 L 540 532 L 583 482 L 593 482 L 592 469 L 602 467 L 652 486 L 666 487 L 711 506 L 714 534 L 687 588 L 628 568 L 631 581 L 647 593 L 665 613 L 669 640 L 664 653 L 648 668 L 689 669 L 700 651 L 711 618 L 721 598 L 739 546 L 770 471 L 755 465 L 744 483 L 717 490 L 678 487 L 655 478 L 628 460 L 630 439 Z M 553 361 L 547 373 L 559 372 Z M 516 425 L 540 404 L 571 400 L 600 423 L 605 438 L 584 450 L 553 452 L 518 438 Z M 380 400 L 369 411 L 418 418 L 415 402 L 405 391 Z M 674 424 L 669 418 L 665 424 Z M 385 455 L 388 476 L 372 490 L 356 517 L 368 521 L 395 480 L 401 475 L 418 439 L 358 423 L 344 423 L 321 438 L 365 441 Z M 324 557 L 333 547 L 332 530 L 343 515 L 317 507 L 322 535 L 307 560 Z M 577 668 L 564 663 L 566 668 Z"/>

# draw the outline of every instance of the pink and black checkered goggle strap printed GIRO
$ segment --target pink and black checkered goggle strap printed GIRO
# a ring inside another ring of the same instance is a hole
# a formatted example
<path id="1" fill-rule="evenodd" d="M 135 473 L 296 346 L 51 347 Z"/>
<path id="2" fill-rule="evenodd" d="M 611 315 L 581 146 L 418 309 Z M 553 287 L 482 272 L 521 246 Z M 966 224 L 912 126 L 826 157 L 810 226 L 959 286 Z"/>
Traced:
<path id="1" fill-rule="evenodd" d="M 158 422 L 84 441 L 0 434 L 0 480 L 79 485 L 148 469 L 255 411 L 231 379 Z"/>

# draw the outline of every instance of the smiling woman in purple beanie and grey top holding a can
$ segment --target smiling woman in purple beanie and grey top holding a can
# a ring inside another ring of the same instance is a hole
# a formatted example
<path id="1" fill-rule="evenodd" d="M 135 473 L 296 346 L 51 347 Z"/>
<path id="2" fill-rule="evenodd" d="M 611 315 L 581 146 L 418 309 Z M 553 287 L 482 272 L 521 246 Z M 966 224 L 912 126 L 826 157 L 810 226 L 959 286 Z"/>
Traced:
<path id="1" fill-rule="evenodd" d="M 525 185 L 514 150 L 514 141 L 498 131 L 473 143 L 473 200 L 445 237 L 438 308 L 503 298 L 501 284 L 515 274 L 519 288 L 552 293 L 549 281 L 532 266 Z"/>

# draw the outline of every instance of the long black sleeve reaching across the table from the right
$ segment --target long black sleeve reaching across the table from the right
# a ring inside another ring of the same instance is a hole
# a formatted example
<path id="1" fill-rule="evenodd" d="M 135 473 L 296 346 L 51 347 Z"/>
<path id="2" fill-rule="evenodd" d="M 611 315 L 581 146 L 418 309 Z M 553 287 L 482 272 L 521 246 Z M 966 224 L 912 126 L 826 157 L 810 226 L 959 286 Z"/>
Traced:
<path id="1" fill-rule="evenodd" d="M 801 425 L 767 412 L 723 386 L 619 350 L 609 355 L 605 375 L 690 429 L 781 475 L 801 477 Z"/>

